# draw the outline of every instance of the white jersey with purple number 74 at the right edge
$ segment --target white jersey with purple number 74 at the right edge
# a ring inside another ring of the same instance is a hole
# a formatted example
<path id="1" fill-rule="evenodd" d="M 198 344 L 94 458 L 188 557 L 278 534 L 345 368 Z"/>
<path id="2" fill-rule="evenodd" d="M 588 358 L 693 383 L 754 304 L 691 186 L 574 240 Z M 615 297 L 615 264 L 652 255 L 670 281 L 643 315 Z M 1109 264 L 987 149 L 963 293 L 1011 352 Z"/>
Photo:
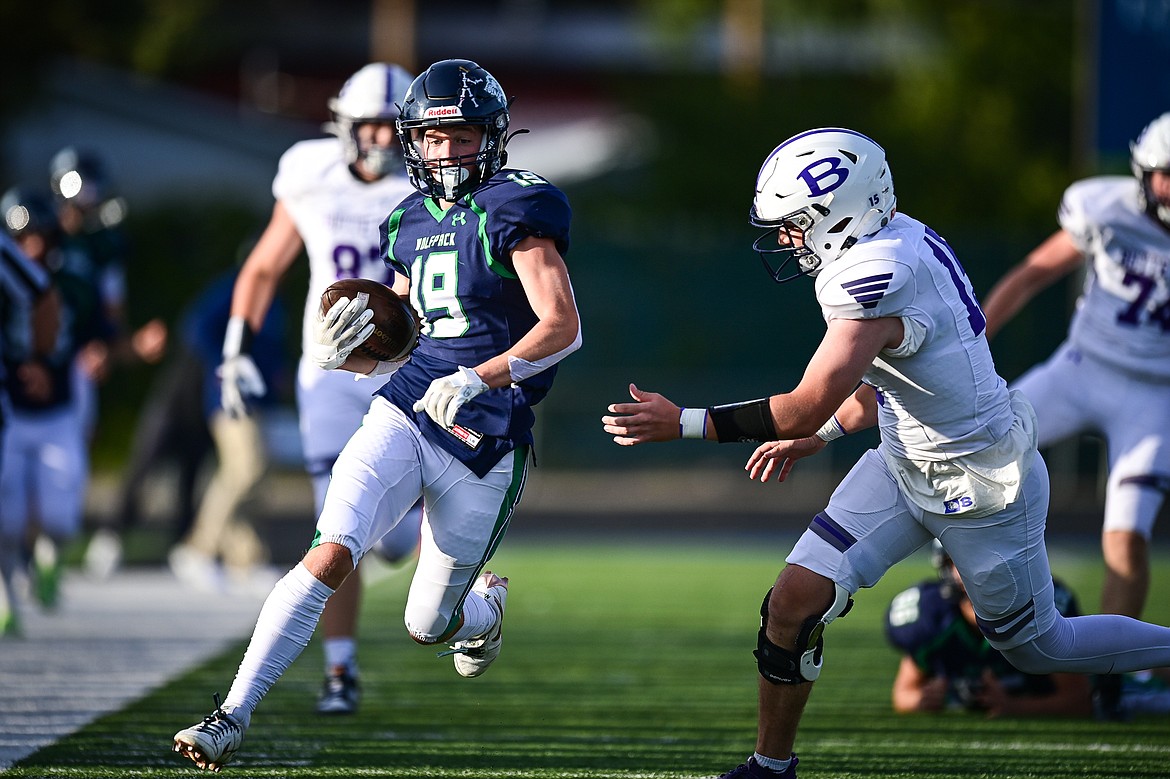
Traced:
<path id="1" fill-rule="evenodd" d="M 1085 254 L 1085 289 L 1068 339 L 1130 373 L 1170 380 L 1170 232 L 1138 202 L 1134 177 L 1068 187 L 1060 226 Z"/>

